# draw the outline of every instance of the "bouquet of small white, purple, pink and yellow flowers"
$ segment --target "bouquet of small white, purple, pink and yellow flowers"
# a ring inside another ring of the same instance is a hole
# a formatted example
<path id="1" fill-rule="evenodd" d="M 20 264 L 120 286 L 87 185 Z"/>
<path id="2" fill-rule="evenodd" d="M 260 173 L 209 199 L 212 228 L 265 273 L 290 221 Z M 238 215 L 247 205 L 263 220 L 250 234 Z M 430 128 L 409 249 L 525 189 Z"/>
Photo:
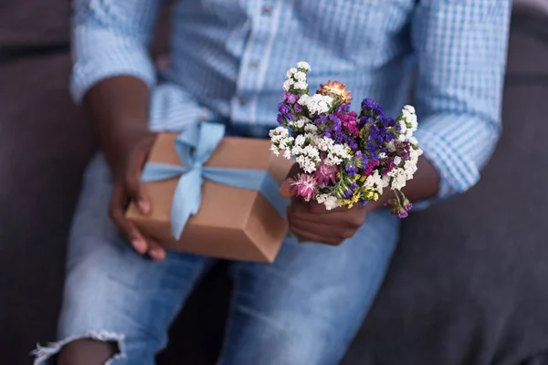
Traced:
<path id="1" fill-rule="evenodd" d="M 331 210 L 376 201 L 390 188 L 392 213 L 407 216 L 411 203 L 401 192 L 416 172 L 422 151 L 413 132 L 415 109 L 406 106 L 396 119 L 385 116 L 372 99 L 359 113 L 350 110 L 350 91 L 331 80 L 309 95 L 310 65 L 290 68 L 279 103 L 279 127 L 270 130 L 271 150 L 300 165 L 292 181 L 296 196 Z"/>

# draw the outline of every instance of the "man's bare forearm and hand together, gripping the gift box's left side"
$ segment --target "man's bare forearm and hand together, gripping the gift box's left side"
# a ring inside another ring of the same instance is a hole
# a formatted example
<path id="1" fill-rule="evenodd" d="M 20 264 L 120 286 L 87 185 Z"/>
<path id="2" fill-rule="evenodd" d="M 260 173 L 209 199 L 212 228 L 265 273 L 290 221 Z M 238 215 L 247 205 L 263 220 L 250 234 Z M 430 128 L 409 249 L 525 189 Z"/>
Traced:
<path id="1" fill-rule="evenodd" d="M 111 219 L 135 250 L 163 260 L 165 251 L 153 239 L 143 235 L 125 218 L 130 202 L 142 214 L 152 206 L 141 183 L 141 172 L 153 147 L 155 134 L 149 130 L 149 89 L 138 78 L 117 76 L 100 81 L 84 99 L 99 132 L 105 159 L 111 167 L 114 190 Z"/>

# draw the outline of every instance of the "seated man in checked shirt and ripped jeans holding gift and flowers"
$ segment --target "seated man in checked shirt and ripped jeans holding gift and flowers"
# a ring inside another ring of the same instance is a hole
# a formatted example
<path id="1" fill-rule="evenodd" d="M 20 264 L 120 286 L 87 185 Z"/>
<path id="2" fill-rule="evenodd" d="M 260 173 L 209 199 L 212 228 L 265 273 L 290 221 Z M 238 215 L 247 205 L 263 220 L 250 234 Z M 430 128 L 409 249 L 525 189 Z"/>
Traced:
<path id="1" fill-rule="evenodd" d="M 500 135 L 510 0 L 181 1 L 162 81 L 147 52 L 160 3 L 75 4 L 71 91 L 103 153 L 73 224 L 59 341 L 38 349 L 37 363 L 59 354 L 63 365 L 153 364 L 215 263 L 166 253 L 124 219 L 129 201 L 152 209 L 139 176 L 154 131 L 223 120 L 232 133 L 265 138 L 286 69 L 305 60 L 311 85 L 337 79 L 392 116 L 414 81 L 425 153 L 406 186 L 413 201 L 468 190 Z M 290 194 L 287 183 L 280 193 Z M 236 289 L 220 363 L 338 363 L 395 249 L 399 221 L 379 209 L 388 198 L 330 212 L 291 203 L 290 229 L 316 244 L 288 238 L 274 264 L 230 263 Z"/>

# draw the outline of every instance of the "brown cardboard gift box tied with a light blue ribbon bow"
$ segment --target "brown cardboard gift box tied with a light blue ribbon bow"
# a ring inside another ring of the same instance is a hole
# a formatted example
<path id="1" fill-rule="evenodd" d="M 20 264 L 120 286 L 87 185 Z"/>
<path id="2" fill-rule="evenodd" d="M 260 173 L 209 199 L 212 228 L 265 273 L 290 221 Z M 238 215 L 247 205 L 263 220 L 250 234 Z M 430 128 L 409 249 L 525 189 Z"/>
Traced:
<path id="1" fill-rule="evenodd" d="M 279 184 L 293 162 L 274 156 L 268 140 L 224 132 L 199 123 L 158 134 L 142 172 L 152 211 L 131 204 L 126 217 L 166 249 L 273 262 L 288 230 Z"/>

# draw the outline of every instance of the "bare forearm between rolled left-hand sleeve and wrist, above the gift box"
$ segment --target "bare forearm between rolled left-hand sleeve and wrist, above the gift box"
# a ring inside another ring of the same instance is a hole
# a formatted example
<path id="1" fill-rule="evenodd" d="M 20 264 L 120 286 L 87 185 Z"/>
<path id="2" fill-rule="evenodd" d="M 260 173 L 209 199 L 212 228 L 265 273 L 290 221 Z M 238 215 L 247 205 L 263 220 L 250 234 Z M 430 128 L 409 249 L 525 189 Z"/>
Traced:
<path id="1" fill-rule="evenodd" d="M 132 147 L 132 135 L 148 132 L 150 93 L 147 85 L 132 76 L 107 78 L 86 94 L 90 111 L 107 162 L 116 163 L 121 149 Z"/>

